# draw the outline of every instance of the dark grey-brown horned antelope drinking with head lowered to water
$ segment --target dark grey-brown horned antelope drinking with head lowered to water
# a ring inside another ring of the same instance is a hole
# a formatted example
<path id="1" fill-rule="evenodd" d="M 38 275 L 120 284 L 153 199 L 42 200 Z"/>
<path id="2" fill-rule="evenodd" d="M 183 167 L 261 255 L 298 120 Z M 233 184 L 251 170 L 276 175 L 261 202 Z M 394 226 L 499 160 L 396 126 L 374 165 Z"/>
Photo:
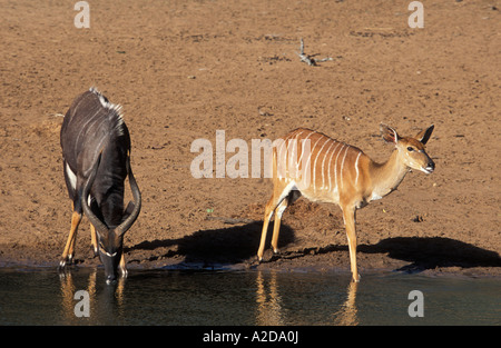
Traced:
<path id="1" fill-rule="evenodd" d="M 82 212 L 90 220 L 95 255 L 105 266 L 106 281 L 127 276 L 124 235 L 141 209 L 141 195 L 130 169 L 130 136 L 120 112 L 91 88 L 78 96 L 61 127 L 63 171 L 72 201 L 71 229 L 59 264 L 71 264 Z M 134 202 L 124 210 L 125 179 Z"/>

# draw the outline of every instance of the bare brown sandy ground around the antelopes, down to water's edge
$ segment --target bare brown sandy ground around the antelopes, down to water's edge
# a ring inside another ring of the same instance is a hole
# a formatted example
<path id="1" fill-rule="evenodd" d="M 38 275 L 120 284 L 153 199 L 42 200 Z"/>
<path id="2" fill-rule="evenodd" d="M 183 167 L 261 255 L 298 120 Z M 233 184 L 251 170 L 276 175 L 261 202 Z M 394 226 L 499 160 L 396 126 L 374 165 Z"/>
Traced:
<path id="1" fill-rule="evenodd" d="M 501 6 L 423 3 L 424 28 L 411 29 L 405 1 L 92 1 L 77 29 L 71 1 L 1 0 L 0 265 L 58 265 L 71 215 L 61 113 L 95 86 L 124 106 L 144 197 L 129 269 L 348 271 L 341 210 L 305 199 L 284 213 L 282 253 L 257 266 L 271 180 L 195 179 L 190 145 L 308 127 L 384 161 L 383 121 L 402 135 L 434 123 L 436 170 L 358 211 L 362 276 L 500 276 Z M 301 62 L 301 38 L 333 60 Z M 84 220 L 80 266 L 99 265 Z"/>

